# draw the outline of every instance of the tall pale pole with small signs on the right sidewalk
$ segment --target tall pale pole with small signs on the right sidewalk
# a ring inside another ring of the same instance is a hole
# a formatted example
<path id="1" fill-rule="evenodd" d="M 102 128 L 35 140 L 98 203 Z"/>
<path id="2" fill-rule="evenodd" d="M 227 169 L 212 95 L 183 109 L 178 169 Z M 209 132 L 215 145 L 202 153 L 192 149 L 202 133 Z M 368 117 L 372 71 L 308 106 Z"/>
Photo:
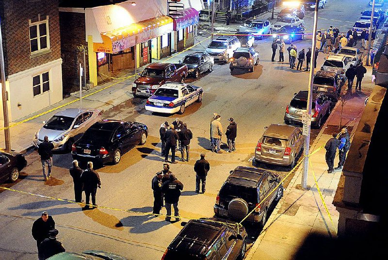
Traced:
<path id="1" fill-rule="evenodd" d="M 283 1 L 283 5 L 288 7 L 296 7 L 301 4 L 300 1 Z M 314 25 L 312 29 L 312 43 L 311 43 L 311 60 L 310 60 L 310 81 L 308 82 L 308 95 L 307 95 L 307 119 L 303 123 L 303 135 L 305 135 L 305 145 L 304 145 L 304 161 L 303 161 L 303 174 L 302 174 L 302 188 L 307 189 L 307 174 L 308 174 L 308 153 L 309 153 L 309 145 L 310 145 L 310 125 L 311 125 L 311 107 L 312 107 L 312 86 L 314 79 L 314 64 L 315 64 L 315 47 L 316 47 L 316 31 L 317 31 L 317 23 L 318 23 L 318 5 L 319 0 L 315 0 L 315 9 L 314 9 Z"/>

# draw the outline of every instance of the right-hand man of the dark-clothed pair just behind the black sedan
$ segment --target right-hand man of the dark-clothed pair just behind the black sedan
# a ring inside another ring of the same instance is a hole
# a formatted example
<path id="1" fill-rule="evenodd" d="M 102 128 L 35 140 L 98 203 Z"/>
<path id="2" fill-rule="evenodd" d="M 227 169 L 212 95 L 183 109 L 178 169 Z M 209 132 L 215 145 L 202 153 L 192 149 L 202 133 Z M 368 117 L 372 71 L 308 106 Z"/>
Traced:
<path id="1" fill-rule="evenodd" d="M 101 180 L 98 173 L 93 170 L 93 162 L 88 162 L 88 168 L 83 171 L 81 175 L 81 180 L 83 183 L 83 189 L 86 196 L 86 204 L 84 209 L 89 208 L 90 195 L 92 195 L 92 209 L 97 208 L 96 204 L 96 194 L 97 187 L 101 189 Z"/>

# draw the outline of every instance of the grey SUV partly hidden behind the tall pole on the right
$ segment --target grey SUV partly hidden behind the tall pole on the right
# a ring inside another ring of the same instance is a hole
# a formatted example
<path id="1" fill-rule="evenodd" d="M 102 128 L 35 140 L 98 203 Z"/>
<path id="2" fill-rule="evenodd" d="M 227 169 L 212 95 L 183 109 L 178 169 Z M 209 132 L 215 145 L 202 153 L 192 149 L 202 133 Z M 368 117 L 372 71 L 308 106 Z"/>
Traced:
<path id="1" fill-rule="evenodd" d="M 296 94 L 289 105 L 286 107 L 284 113 L 284 122 L 286 124 L 302 123 L 302 114 L 307 112 L 307 95 L 305 90 L 299 91 Z M 335 103 L 333 103 L 327 95 L 321 92 L 313 92 L 312 94 L 312 106 L 311 106 L 311 126 L 314 128 L 320 128 L 323 122 L 323 118 L 327 117 Z"/>

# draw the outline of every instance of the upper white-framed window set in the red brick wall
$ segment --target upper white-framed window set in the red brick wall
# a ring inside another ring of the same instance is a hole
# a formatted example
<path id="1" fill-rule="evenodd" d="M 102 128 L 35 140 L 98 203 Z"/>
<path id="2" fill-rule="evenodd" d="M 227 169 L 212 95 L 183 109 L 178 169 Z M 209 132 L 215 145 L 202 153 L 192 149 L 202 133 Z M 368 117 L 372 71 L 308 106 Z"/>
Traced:
<path id="1" fill-rule="evenodd" d="M 31 53 L 50 48 L 49 41 L 49 17 L 46 20 L 32 23 L 30 25 L 30 48 Z"/>

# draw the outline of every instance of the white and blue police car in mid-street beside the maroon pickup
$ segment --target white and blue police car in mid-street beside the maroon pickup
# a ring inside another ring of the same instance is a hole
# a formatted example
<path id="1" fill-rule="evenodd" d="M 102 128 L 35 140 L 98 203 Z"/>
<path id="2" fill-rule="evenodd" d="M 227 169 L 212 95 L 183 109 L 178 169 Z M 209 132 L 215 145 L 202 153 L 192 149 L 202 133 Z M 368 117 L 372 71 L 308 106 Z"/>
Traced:
<path id="1" fill-rule="evenodd" d="M 187 106 L 202 101 L 203 88 L 166 82 L 147 99 L 146 110 L 163 114 L 183 114 Z"/>

